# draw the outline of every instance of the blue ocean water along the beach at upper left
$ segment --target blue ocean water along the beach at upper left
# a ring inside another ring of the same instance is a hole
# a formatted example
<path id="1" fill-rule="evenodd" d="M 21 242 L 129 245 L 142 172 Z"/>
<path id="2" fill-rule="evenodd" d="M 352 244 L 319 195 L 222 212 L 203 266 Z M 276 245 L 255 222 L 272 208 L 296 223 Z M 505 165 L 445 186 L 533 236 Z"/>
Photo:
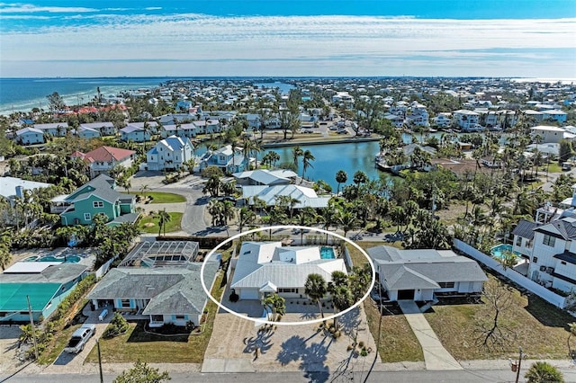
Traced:
<path id="1" fill-rule="evenodd" d="M 151 88 L 172 77 L 0 78 L 0 114 L 48 109 L 47 95 L 58 92 L 67 104 L 89 102 L 97 94 Z"/>

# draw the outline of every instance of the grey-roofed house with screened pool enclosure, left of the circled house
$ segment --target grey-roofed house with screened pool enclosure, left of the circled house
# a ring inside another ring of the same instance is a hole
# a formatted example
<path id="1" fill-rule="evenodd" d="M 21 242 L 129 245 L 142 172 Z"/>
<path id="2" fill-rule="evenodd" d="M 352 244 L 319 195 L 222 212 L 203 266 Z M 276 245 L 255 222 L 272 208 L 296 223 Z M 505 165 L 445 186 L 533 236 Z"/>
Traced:
<path id="1" fill-rule="evenodd" d="M 193 262 L 197 254 L 198 244 L 190 241 L 140 243 L 87 298 L 95 307 L 111 305 L 146 318 L 150 327 L 200 325 L 208 297 L 202 289 L 202 263 Z M 202 277 L 209 289 L 219 267 L 217 259 L 204 264 Z"/>

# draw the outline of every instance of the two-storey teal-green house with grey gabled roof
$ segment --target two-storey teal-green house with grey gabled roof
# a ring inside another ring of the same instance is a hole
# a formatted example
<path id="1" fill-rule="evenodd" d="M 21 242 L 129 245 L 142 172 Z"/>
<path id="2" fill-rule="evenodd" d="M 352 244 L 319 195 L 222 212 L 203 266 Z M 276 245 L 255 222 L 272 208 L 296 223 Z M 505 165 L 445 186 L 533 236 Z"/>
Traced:
<path id="1" fill-rule="evenodd" d="M 89 183 L 85 183 L 72 194 L 58 200 L 62 225 L 90 225 L 96 214 L 108 217 L 108 225 L 133 223 L 139 217 L 136 213 L 134 195 L 116 191 L 114 179 L 100 174 Z"/>

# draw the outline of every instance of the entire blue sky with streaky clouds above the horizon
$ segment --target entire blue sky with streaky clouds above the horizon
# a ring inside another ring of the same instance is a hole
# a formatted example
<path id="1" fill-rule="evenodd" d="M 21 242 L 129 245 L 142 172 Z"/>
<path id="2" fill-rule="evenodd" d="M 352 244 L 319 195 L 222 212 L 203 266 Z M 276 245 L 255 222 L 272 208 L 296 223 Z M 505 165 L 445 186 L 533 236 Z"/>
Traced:
<path id="1" fill-rule="evenodd" d="M 576 1 L 0 2 L 0 76 L 576 78 Z"/>

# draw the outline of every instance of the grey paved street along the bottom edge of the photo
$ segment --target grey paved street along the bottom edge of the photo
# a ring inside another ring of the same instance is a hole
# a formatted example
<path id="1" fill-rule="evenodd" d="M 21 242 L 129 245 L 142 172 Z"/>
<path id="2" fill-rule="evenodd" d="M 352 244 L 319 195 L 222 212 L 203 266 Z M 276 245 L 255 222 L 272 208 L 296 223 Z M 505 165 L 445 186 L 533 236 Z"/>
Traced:
<path id="1" fill-rule="evenodd" d="M 564 379 L 567 382 L 576 381 L 576 370 L 563 369 Z M 524 381 L 525 369 L 522 369 L 520 380 Z M 338 377 L 326 374 L 307 374 L 306 372 L 265 372 L 265 373 L 242 373 L 242 374 L 206 374 L 198 372 L 178 372 L 171 373 L 171 382 L 211 382 L 211 383 L 269 383 L 271 381 L 282 381 L 283 383 L 300 382 L 364 382 L 366 372 L 353 372 Z M 104 374 L 103 381 L 112 382 L 116 375 Z M 444 383 L 485 383 L 485 382 L 513 382 L 516 379 L 515 373 L 510 370 L 460 370 L 460 371 L 374 371 L 367 379 L 368 382 L 387 383 L 414 383 L 414 382 L 444 382 Z M 100 381 L 98 374 L 76 375 L 25 375 L 18 374 L 12 379 L 5 380 L 7 383 L 36 383 L 36 382 L 58 382 L 58 383 L 97 383 Z M 4 380 L 0 379 L 0 382 Z"/>

